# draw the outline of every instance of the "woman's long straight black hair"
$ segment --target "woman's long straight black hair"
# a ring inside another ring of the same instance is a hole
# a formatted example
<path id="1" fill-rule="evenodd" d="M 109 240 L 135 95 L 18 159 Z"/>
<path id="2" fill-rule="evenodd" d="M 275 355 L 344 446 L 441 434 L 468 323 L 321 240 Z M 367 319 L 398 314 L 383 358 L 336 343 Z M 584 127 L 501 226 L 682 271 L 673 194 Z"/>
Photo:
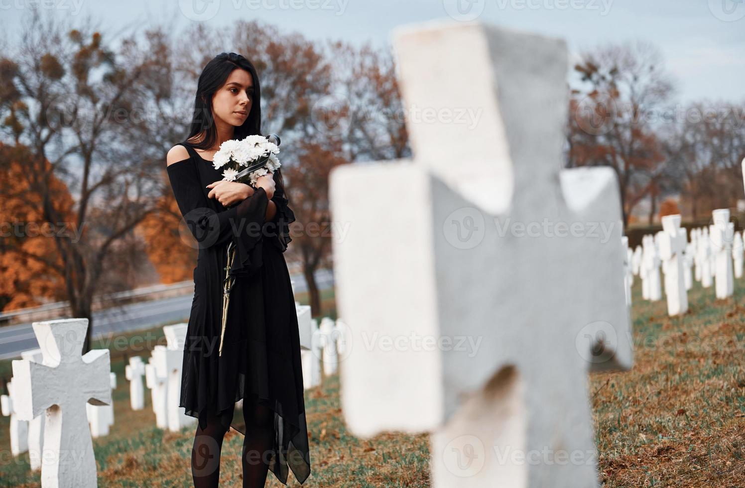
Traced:
<path id="1" fill-rule="evenodd" d="M 192 148 L 211 149 L 218 141 L 218 128 L 215 126 L 215 115 L 212 113 L 212 96 L 220 89 L 235 69 L 244 69 L 253 78 L 253 102 L 251 111 L 243 124 L 235 127 L 233 139 L 245 139 L 247 136 L 261 135 L 261 86 L 259 74 L 253 63 L 241 54 L 221 52 L 213 57 L 202 69 L 197 81 L 197 95 L 194 97 L 194 115 L 191 118 L 186 143 Z M 190 142 L 200 134 L 200 142 Z M 289 198 L 285 193 L 285 181 L 282 179 L 282 168 L 274 174 L 275 193 Z"/>

